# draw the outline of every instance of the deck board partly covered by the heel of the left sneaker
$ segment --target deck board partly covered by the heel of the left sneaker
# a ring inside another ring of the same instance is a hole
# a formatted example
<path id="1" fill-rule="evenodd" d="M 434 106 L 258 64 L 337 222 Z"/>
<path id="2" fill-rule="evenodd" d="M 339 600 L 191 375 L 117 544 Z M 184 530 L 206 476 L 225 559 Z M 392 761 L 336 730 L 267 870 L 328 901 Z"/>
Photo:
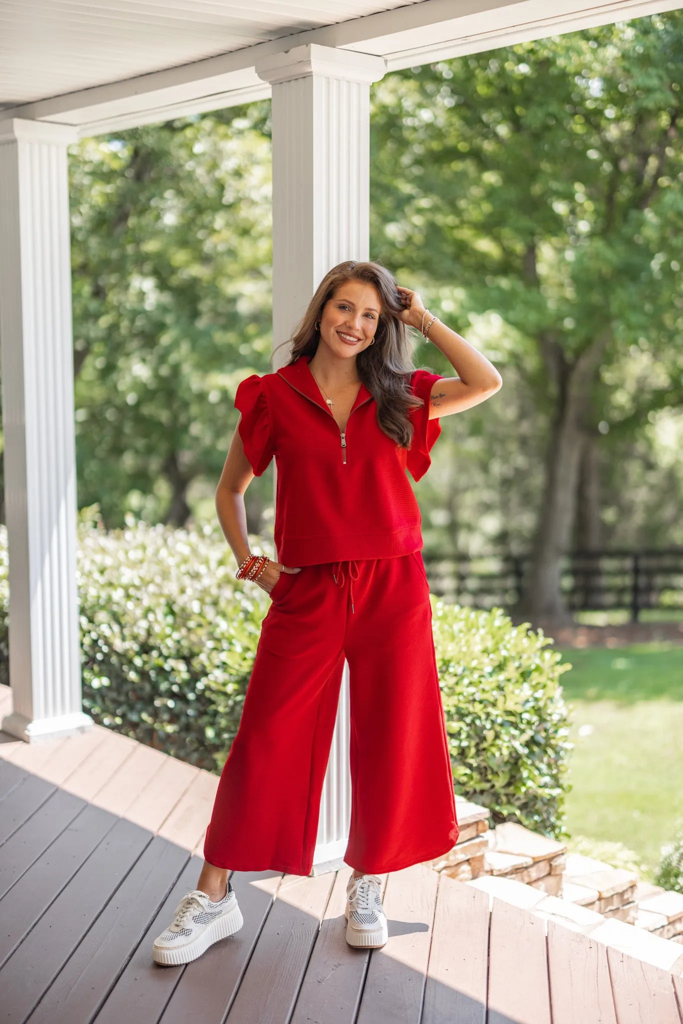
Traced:
<path id="1" fill-rule="evenodd" d="M 236 871 L 230 876 L 244 926 L 187 965 L 161 1024 L 197 1024 L 198 1006 L 202 1007 L 202 1024 L 221 1024 L 237 995 L 281 881 L 282 874 L 274 871 Z"/>

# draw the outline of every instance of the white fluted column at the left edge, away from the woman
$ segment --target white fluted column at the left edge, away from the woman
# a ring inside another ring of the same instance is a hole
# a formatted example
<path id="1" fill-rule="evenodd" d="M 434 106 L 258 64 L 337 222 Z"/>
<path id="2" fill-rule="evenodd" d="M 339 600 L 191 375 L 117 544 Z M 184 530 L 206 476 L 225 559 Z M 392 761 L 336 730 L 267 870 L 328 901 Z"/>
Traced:
<path id="1" fill-rule="evenodd" d="M 0 353 L 9 678 L 0 723 L 29 741 L 92 727 L 81 710 L 67 146 L 73 129 L 0 123 Z"/>

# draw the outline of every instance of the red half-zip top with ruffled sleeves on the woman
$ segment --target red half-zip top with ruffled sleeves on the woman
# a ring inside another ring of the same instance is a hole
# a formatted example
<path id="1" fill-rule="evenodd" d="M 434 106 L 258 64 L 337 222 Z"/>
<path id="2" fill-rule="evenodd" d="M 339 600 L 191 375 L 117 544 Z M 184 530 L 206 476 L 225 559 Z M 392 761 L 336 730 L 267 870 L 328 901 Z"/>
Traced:
<path id="1" fill-rule="evenodd" d="M 415 432 L 403 449 L 378 426 L 377 404 L 365 384 L 342 433 L 308 359 L 247 377 L 234 398 L 255 475 L 275 459 L 279 561 L 316 565 L 421 551 L 422 517 L 405 470 L 419 480 L 429 469 L 441 432 L 438 419 L 429 419 L 429 394 L 442 378 L 414 372 L 411 387 L 423 406 L 411 410 Z"/>

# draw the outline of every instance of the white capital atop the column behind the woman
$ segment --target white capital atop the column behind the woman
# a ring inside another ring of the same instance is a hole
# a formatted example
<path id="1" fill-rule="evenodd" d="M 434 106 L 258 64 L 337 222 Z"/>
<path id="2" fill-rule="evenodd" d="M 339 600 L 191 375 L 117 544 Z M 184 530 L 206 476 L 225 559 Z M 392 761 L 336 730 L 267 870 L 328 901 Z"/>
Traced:
<path id="1" fill-rule="evenodd" d="M 313 75 L 370 85 L 384 77 L 386 60 L 372 53 L 356 53 L 355 50 L 340 50 L 334 46 L 307 43 L 305 46 L 295 46 L 284 53 L 264 57 L 256 65 L 256 74 L 272 85 Z"/>

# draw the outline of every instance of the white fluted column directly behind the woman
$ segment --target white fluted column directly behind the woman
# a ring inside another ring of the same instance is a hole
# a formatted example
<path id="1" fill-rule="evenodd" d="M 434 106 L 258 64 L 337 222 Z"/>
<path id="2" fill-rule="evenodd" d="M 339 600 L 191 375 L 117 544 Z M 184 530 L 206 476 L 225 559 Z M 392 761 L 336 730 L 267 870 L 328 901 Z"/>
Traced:
<path id="1" fill-rule="evenodd" d="M 369 258 L 370 85 L 383 57 L 297 46 L 256 66 L 272 85 L 272 336 L 286 341 L 328 270 Z M 283 346 L 274 365 L 289 358 Z M 313 873 L 341 862 L 350 819 L 348 665 Z"/>

